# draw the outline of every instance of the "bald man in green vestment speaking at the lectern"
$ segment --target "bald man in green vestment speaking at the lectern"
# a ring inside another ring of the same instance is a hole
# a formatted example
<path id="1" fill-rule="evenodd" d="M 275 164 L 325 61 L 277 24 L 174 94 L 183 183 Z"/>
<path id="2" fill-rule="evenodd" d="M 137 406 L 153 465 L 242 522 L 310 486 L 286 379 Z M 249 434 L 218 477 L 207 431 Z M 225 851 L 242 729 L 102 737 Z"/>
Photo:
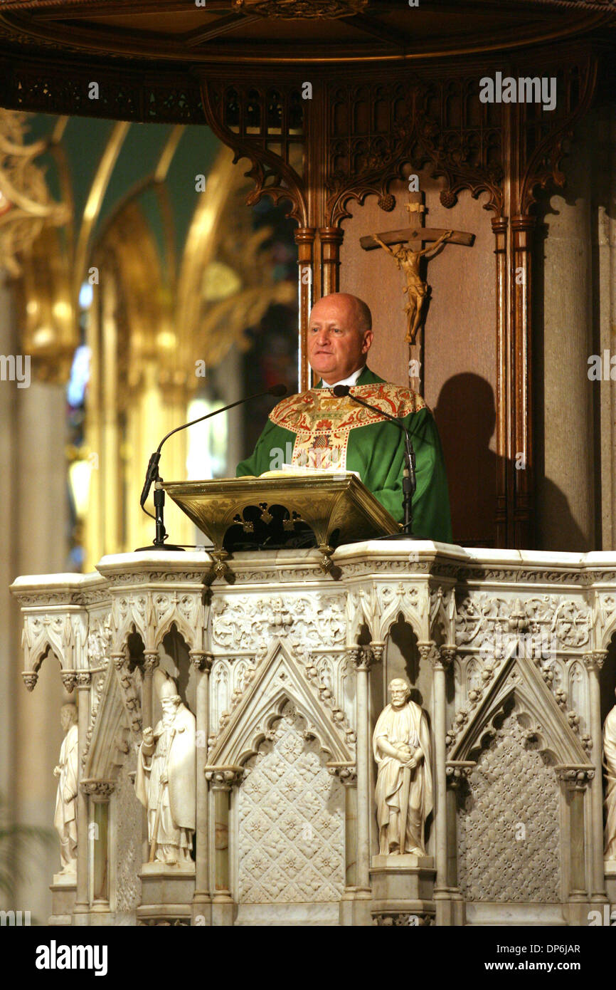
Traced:
<path id="1" fill-rule="evenodd" d="M 378 413 L 332 394 L 335 385 L 349 385 L 353 395 L 403 420 L 416 455 L 413 532 L 451 543 L 447 477 L 436 424 L 421 396 L 389 384 L 368 368 L 373 339 L 372 317 L 363 300 L 346 292 L 319 299 L 308 323 L 308 362 L 320 382 L 274 407 L 252 455 L 237 465 L 236 475 L 258 476 L 283 462 L 357 471 L 401 522 L 402 434 Z"/>

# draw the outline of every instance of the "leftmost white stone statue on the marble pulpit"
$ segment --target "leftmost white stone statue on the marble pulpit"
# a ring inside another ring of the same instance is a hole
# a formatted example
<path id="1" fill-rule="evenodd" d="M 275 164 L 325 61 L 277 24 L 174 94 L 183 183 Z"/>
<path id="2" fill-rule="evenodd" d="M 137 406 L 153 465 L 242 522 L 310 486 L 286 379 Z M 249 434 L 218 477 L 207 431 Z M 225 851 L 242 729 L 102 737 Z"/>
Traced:
<path id="1" fill-rule="evenodd" d="M 77 872 L 77 791 L 78 791 L 78 730 L 77 709 L 62 705 L 60 725 L 65 734 L 53 776 L 58 778 L 55 797 L 54 828 L 60 837 L 60 873 Z"/>

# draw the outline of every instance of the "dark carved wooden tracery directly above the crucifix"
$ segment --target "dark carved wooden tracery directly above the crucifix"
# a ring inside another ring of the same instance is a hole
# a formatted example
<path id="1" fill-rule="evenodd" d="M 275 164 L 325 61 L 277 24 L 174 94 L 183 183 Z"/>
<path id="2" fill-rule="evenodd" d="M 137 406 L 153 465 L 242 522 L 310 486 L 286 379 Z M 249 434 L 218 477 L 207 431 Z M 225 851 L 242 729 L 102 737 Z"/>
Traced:
<path id="1" fill-rule="evenodd" d="M 441 202 L 451 207 L 456 194 L 469 188 L 474 196 L 490 192 L 490 206 L 500 204 L 501 125 L 493 105 L 479 102 L 479 77 L 461 74 L 445 79 L 406 73 L 403 81 L 372 84 L 330 83 L 326 223 L 350 217 L 346 204 L 379 196 L 390 211 L 392 179 L 403 166 L 432 166 L 445 176 Z"/>

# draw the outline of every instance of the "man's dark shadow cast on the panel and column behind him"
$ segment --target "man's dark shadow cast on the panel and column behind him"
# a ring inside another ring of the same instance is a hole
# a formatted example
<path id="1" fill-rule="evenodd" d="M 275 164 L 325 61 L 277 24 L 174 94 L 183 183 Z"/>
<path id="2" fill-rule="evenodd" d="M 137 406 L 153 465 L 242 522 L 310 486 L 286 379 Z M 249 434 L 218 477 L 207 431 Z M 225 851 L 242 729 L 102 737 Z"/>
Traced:
<path id="1" fill-rule="evenodd" d="M 496 478 L 504 458 L 489 448 L 496 426 L 494 392 L 480 375 L 453 375 L 443 385 L 434 409 L 443 445 L 454 543 L 495 546 Z M 510 465 L 516 470 L 515 464 Z M 572 517 L 566 495 L 549 478 L 541 482 L 537 546 L 546 550 L 584 552 L 592 547 Z M 551 533 L 549 544 L 542 531 Z"/>

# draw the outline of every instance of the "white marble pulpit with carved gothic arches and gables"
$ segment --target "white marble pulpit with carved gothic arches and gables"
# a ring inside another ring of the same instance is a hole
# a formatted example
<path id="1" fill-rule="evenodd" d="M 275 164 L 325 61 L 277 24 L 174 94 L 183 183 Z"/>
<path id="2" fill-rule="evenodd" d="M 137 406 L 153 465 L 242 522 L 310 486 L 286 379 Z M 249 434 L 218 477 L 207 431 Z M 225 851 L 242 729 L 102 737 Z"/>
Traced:
<path id="1" fill-rule="evenodd" d="M 616 555 L 386 540 L 338 547 L 330 572 L 320 556 L 235 553 L 220 578 L 205 551 L 147 551 L 12 585 L 26 687 L 59 664 L 77 702 L 76 869 L 60 874 L 58 851 L 50 922 L 588 925 L 611 910 Z M 196 719 L 181 864 L 151 861 L 135 796 L 157 668 Z M 379 849 L 372 739 L 396 678 L 429 729 L 421 856 Z"/>

